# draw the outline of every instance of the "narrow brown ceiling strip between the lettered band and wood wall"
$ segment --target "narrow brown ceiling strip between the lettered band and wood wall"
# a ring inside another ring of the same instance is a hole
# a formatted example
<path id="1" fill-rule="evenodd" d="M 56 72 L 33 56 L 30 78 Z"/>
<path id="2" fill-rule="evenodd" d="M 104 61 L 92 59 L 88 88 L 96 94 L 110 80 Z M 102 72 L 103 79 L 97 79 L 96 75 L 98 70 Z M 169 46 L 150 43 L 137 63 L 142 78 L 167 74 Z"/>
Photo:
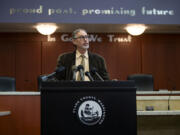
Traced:
<path id="1" fill-rule="evenodd" d="M 37 32 L 36 23 L 0 23 L 0 32 Z M 57 32 L 72 32 L 76 28 L 90 33 L 126 33 L 125 24 L 57 24 Z M 148 24 L 145 33 L 180 33 L 179 25 Z"/>

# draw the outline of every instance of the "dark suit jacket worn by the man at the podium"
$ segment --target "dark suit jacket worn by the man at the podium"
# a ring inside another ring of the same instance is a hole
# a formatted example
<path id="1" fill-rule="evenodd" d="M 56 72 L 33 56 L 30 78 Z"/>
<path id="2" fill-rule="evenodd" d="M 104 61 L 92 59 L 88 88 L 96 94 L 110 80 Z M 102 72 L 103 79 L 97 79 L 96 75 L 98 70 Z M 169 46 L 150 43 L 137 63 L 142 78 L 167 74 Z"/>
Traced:
<path id="1" fill-rule="evenodd" d="M 106 70 L 106 64 L 103 57 L 88 52 L 89 55 L 89 70 L 91 71 L 93 68 L 96 68 L 97 72 L 104 80 L 109 80 L 109 75 Z M 65 53 L 59 56 L 57 67 L 64 66 L 65 72 L 59 73 L 56 75 L 58 80 L 72 80 L 73 72 L 72 66 L 75 65 L 76 52 Z M 94 80 L 99 80 L 96 75 L 91 74 Z"/>

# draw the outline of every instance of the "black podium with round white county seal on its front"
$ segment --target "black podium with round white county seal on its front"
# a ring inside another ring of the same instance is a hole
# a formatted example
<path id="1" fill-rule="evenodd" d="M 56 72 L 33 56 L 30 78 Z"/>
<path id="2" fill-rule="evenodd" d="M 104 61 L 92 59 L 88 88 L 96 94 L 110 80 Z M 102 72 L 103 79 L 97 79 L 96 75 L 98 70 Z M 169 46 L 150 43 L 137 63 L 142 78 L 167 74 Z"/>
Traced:
<path id="1" fill-rule="evenodd" d="M 137 135 L 133 81 L 43 82 L 41 135 Z"/>

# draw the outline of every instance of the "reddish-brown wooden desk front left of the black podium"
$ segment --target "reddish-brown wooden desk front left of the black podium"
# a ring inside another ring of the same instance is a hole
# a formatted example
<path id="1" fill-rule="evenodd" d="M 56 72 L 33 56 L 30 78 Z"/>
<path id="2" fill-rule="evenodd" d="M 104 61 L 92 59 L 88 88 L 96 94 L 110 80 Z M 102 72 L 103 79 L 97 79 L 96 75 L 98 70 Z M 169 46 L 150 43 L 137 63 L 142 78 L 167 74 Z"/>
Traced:
<path id="1" fill-rule="evenodd" d="M 0 111 L 11 114 L 0 117 L 1 135 L 40 135 L 40 96 L 0 95 Z"/>

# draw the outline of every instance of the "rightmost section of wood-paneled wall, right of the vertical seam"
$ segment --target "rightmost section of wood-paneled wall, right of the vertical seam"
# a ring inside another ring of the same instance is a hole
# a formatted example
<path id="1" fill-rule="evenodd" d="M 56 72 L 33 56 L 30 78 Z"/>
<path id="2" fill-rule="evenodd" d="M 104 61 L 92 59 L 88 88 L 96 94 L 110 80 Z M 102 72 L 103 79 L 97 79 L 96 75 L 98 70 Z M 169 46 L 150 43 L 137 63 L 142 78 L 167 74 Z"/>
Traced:
<path id="1" fill-rule="evenodd" d="M 142 73 L 152 73 L 155 88 L 180 90 L 180 35 L 145 35 L 142 42 Z"/>

